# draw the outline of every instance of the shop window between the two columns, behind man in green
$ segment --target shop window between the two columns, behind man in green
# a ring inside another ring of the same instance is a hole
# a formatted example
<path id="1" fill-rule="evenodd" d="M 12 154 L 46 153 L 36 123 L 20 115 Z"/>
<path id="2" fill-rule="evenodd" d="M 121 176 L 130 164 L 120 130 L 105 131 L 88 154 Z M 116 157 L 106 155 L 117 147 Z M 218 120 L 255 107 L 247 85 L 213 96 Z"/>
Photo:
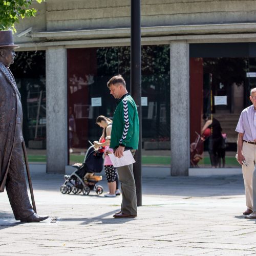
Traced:
<path id="1" fill-rule="evenodd" d="M 170 144 L 169 46 L 143 46 L 142 55 L 142 140 Z M 113 117 L 117 100 L 106 87 L 108 80 L 121 74 L 130 90 L 130 47 L 68 49 L 69 148 L 72 156 L 83 153 L 90 141 L 98 140 L 102 130 L 97 116 Z M 92 101 L 100 99 L 98 105 Z M 75 122 L 73 122 L 73 119 Z M 152 144 L 153 145 L 153 144 Z M 151 145 L 151 148 L 152 148 Z M 163 149 L 159 146 L 152 148 Z M 74 160 L 76 161 L 76 160 Z"/>

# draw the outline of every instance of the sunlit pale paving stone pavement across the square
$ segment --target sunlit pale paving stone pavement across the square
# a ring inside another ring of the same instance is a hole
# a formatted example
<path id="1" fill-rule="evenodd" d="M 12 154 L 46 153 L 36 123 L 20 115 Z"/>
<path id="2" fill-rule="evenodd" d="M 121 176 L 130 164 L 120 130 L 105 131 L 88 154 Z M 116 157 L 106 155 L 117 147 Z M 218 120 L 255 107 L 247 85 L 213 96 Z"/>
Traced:
<path id="1" fill-rule="evenodd" d="M 144 177 L 135 219 L 114 219 L 121 196 L 62 195 L 62 175 L 32 173 L 40 223 L 14 220 L 0 194 L 0 255 L 250 255 L 256 222 L 244 219 L 243 178 Z M 105 179 L 98 184 L 107 188 Z"/>

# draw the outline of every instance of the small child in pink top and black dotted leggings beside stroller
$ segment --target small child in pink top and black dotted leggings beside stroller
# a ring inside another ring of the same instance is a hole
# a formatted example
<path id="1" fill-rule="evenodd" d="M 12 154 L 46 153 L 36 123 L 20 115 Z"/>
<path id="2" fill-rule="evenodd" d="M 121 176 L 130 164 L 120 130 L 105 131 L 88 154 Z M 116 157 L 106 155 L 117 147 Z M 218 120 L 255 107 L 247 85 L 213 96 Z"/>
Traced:
<path id="1" fill-rule="evenodd" d="M 116 176 L 117 169 L 113 166 L 111 159 L 109 157 L 109 153 L 113 153 L 114 151 L 110 148 L 110 136 L 106 136 L 106 146 L 104 148 L 104 170 L 106 179 L 108 180 L 109 193 L 105 194 L 104 197 L 115 197 L 116 196 Z"/>

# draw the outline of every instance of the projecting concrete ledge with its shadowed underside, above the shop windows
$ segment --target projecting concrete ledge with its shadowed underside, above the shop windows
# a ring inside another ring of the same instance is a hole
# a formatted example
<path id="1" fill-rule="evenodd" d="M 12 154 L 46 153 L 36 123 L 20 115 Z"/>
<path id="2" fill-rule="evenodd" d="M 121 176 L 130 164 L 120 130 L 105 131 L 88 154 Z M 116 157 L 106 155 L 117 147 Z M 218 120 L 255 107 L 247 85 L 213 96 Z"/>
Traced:
<path id="1" fill-rule="evenodd" d="M 49 46 L 100 47 L 130 45 L 130 28 L 82 29 L 30 32 L 28 42 L 16 42 L 24 48 Z M 141 44 L 168 44 L 170 41 L 196 42 L 256 41 L 256 23 L 152 26 L 141 28 Z M 20 50 L 22 50 L 20 49 Z"/>

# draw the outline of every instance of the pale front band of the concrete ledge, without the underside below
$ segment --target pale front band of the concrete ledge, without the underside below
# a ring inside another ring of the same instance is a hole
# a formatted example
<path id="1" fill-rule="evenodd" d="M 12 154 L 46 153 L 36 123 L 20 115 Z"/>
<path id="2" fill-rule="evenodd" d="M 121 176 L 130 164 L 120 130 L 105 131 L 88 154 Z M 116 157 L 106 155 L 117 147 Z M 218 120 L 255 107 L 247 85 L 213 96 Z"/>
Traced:
<path id="1" fill-rule="evenodd" d="M 141 28 L 142 37 L 232 33 L 256 33 L 256 23 L 179 25 Z M 123 38 L 130 37 L 130 34 L 130 28 L 43 31 L 30 33 L 32 38 L 42 38 L 48 40 Z"/>

